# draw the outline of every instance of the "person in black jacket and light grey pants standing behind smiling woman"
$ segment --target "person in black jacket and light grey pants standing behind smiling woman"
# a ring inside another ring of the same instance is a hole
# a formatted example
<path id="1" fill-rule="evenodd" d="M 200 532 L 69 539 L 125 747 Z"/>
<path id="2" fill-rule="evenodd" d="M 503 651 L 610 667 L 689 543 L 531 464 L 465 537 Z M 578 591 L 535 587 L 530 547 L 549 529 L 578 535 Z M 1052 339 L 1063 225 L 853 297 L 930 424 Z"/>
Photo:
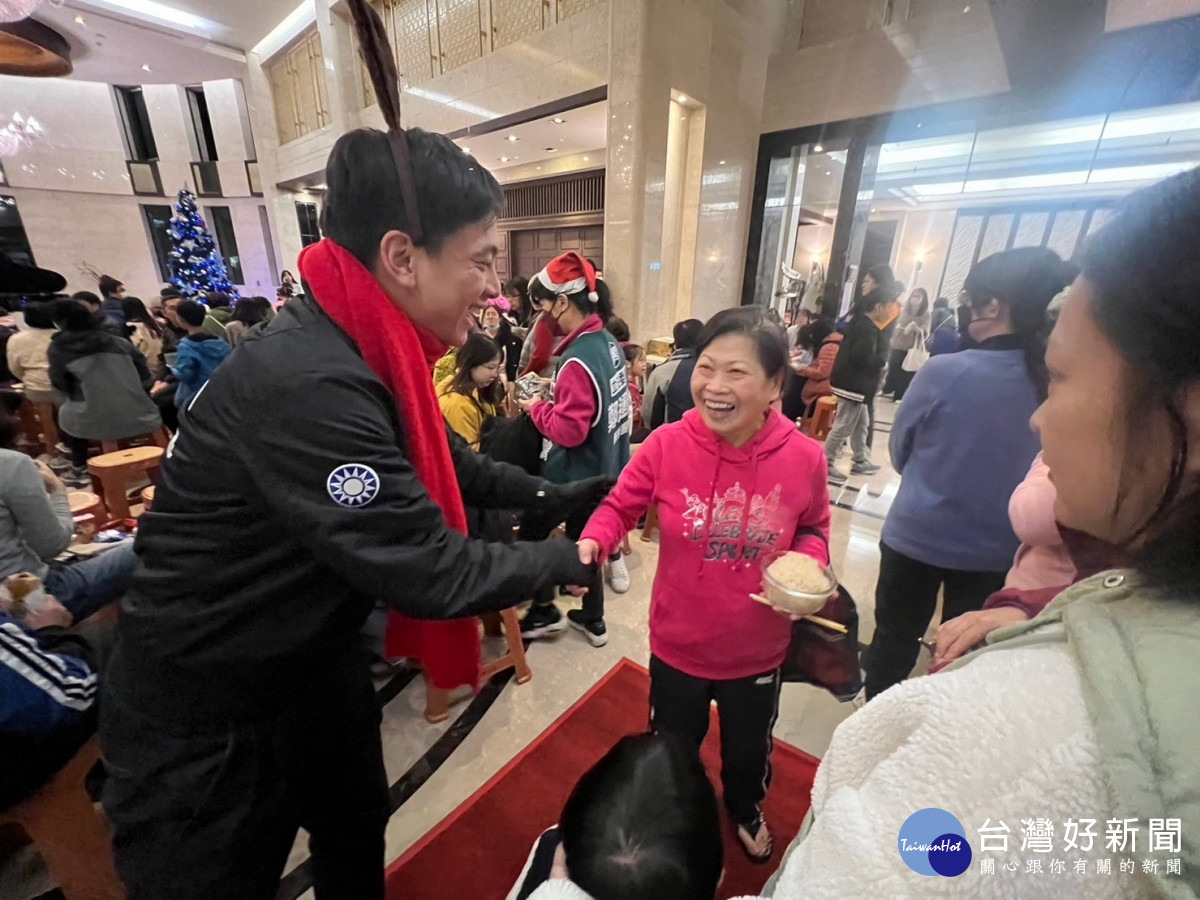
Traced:
<path id="1" fill-rule="evenodd" d="M 854 452 L 851 475 L 872 475 L 880 470 L 871 462 L 866 445 L 870 428 L 868 403 L 880 390 L 880 374 L 888 359 L 889 344 L 883 332 L 890 312 L 888 304 L 888 298 L 878 288 L 858 302 L 829 377 L 838 397 L 838 415 L 826 438 L 826 460 L 829 462 L 829 481 L 835 485 L 844 485 L 848 478 L 835 464 L 847 438 Z"/>

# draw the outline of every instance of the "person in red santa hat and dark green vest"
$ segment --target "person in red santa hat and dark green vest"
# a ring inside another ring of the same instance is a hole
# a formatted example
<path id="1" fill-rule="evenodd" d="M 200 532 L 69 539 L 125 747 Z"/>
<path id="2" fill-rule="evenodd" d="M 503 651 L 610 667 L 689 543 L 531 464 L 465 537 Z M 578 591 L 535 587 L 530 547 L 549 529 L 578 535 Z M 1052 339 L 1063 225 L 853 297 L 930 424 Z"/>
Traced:
<path id="1" fill-rule="evenodd" d="M 583 478 L 617 478 L 629 462 L 632 402 L 625 371 L 625 354 L 605 330 L 612 317 L 608 287 L 578 253 L 563 253 L 529 281 L 533 301 L 550 304 L 546 316 L 553 330 L 564 335 L 558 347 L 554 398 L 522 400 L 521 408 L 551 442 L 542 475 L 553 484 Z M 566 534 L 580 536 L 587 515 L 566 520 Z M 612 588 L 629 590 L 629 570 L 618 551 L 610 558 Z M 552 594 L 544 592 L 521 624 L 526 637 L 547 637 L 566 628 L 582 631 L 593 647 L 608 642 L 604 624 L 604 577 L 588 586 L 582 610 L 563 614 Z"/>

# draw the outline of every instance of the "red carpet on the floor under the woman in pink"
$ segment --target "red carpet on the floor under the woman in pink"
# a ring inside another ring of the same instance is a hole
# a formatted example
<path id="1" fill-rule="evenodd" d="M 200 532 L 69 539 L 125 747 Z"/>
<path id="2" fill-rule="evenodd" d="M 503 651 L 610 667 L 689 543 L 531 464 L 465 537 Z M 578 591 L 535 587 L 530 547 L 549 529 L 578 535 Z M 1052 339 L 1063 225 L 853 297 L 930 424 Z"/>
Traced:
<path id="1" fill-rule="evenodd" d="M 388 869 L 389 900 L 503 900 L 534 840 L 558 821 L 578 778 L 625 734 L 647 727 L 650 679 L 623 659 L 523 752 Z M 716 712 L 703 758 L 720 791 Z M 775 860 L 751 865 L 724 822 L 721 898 L 756 894 L 782 859 L 809 810 L 818 760 L 776 740 L 767 821 Z M 724 810 L 722 810 L 724 816 Z"/>

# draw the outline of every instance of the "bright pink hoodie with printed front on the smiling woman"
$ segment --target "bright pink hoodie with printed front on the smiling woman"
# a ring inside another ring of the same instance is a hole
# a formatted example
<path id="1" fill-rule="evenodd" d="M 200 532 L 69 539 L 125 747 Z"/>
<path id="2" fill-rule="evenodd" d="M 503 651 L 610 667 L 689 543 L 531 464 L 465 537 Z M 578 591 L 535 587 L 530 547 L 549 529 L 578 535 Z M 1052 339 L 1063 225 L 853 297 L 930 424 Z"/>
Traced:
<path id="1" fill-rule="evenodd" d="M 792 623 L 750 594 L 762 589 L 762 560 L 769 553 L 796 550 L 829 562 L 827 468 L 821 444 L 775 410 L 740 448 L 709 431 L 695 409 L 650 432 L 583 538 L 607 556 L 642 512 L 658 505 L 661 542 L 650 601 L 655 656 L 712 680 L 782 664 Z"/>

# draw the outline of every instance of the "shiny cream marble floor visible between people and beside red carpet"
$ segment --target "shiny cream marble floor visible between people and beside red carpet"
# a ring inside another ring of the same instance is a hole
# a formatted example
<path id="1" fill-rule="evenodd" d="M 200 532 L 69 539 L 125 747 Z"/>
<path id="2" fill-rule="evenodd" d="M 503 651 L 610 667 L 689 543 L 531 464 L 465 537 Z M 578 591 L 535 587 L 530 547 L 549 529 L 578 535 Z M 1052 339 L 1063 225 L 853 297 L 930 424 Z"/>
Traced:
<path id="1" fill-rule="evenodd" d="M 878 401 L 874 458 L 882 469 L 871 478 L 851 478 L 844 487 L 830 485 L 834 504 L 833 564 L 858 604 L 859 640 L 863 643 L 869 643 L 875 631 L 874 595 L 880 532 L 899 485 L 899 475 L 892 469 L 887 452 L 894 410 L 890 401 Z M 848 464 L 848 460 L 844 458 L 844 462 Z M 649 662 L 647 619 L 658 544 L 643 542 L 635 534 L 632 547 L 634 556 L 629 560 L 631 589 L 623 595 L 606 594 L 606 647 L 593 648 L 572 630 L 551 641 L 534 642 L 528 650 L 534 673 L 532 682 L 523 685 L 509 682 L 494 698 L 461 702 L 454 707 L 450 721 L 442 725 L 428 725 L 422 718 L 425 689 L 420 679 L 414 679 L 386 703 L 383 736 L 389 780 L 394 785 L 424 780 L 389 821 L 389 863 L 530 744 L 622 656 L 642 665 Z M 569 602 L 562 600 L 560 606 L 565 608 Z M 485 653 L 487 649 L 485 646 Z M 491 704 L 486 706 L 488 701 Z M 486 706 L 486 712 L 469 727 L 480 706 Z M 829 746 L 834 728 L 853 712 L 851 703 L 839 703 L 826 691 L 803 684 L 786 684 L 775 737 L 820 757 Z M 460 722 L 457 731 L 445 737 L 456 722 Z M 443 755 L 436 746 L 438 742 L 451 743 L 466 727 L 469 727 L 466 737 L 430 774 L 431 766 Z M 394 790 L 394 798 L 395 793 Z M 407 791 L 401 787 L 401 793 Z M 292 877 L 284 878 L 278 895 L 281 900 L 312 898 L 311 890 L 304 890 L 310 883 L 302 864 L 306 857 L 307 840 L 301 835 L 288 865 L 294 871 Z"/>

